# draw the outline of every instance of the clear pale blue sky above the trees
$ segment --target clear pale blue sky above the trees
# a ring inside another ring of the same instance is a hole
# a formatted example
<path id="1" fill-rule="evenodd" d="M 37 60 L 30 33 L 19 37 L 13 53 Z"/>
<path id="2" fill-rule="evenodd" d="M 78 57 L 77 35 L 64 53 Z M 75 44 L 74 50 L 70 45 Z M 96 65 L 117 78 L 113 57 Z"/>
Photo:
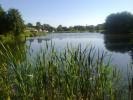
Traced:
<path id="1" fill-rule="evenodd" d="M 8 10 L 16 8 L 25 23 L 52 26 L 97 25 L 111 13 L 133 13 L 133 0 L 0 0 Z"/>

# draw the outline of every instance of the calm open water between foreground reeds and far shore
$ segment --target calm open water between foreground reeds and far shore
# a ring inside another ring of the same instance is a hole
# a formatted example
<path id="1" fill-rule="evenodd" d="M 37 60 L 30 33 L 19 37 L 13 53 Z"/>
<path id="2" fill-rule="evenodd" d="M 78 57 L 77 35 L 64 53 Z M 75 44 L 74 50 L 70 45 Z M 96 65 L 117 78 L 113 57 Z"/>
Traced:
<path id="1" fill-rule="evenodd" d="M 81 44 L 83 48 L 88 45 L 94 46 L 96 50 L 111 55 L 111 63 L 123 71 L 133 62 L 133 49 L 132 45 L 129 45 L 129 39 L 109 38 L 100 33 L 51 33 L 46 36 L 27 38 L 26 45 L 30 46 L 32 51 L 38 52 L 46 47 L 46 42 L 50 44 L 51 41 L 58 50 L 63 50 L 67 45 L 76 47 Z"/>

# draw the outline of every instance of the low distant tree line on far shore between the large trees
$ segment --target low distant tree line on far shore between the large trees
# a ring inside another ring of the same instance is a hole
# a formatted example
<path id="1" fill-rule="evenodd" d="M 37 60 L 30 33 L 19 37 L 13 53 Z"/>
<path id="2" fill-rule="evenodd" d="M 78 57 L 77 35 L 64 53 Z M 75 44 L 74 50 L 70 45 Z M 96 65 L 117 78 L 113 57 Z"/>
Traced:
<path id="1" fill-rule="evenodd" d="M 36 25 L 33 25 L 32 23 L 28 23 L 26 25 L 29 28 L 35 28 L 38 31 L 48 31 L 48 32 L 96 32 L 96 31 L 102 31 L 104 30 L 104 24 L 98 24 L 96 26 L 94 25 L 86 25 L 86 26 L 81 26 L 81 25 L 76 25 L 76 26 L 62 26 L 59 25 L 58 27 L 53 27 L 49 24 L 41 24 L 40 22 L 36 22 Z"/>

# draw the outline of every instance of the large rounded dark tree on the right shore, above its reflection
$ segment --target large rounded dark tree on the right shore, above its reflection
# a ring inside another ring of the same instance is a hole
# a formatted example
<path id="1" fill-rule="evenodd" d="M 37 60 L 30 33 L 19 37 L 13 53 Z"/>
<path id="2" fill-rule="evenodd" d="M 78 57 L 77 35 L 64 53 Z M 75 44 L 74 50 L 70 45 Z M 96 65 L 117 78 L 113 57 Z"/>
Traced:
<path id="1" fill-rule="evenodd" d="M 105 23 L 107 33 L 125 34 L 133 32 L 133 15 L 129 12 L 111 14 Z"/>

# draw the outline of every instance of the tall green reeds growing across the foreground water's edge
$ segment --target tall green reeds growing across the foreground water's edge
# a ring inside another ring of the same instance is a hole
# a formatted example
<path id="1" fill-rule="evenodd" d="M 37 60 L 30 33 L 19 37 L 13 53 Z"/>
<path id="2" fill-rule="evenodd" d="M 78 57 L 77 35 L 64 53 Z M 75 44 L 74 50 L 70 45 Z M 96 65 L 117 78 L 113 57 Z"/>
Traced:
<path id="1" fill-rule="evenodd" d="M 0 50 L 0 99 L 122 100 L 120 74 L 95 48 L 46 46 L 35 57 L 16 46 Z M 129 79 L 130 80 L 130 79 Z"/>

